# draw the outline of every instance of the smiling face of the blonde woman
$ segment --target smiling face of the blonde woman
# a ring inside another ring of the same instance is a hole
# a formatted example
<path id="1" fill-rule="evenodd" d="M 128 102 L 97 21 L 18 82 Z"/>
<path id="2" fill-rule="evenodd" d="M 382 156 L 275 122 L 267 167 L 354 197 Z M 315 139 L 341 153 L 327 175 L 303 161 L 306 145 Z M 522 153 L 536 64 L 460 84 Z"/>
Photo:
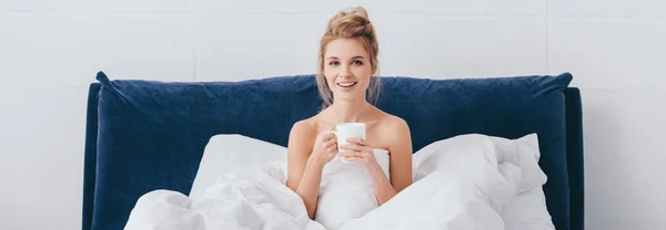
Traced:
<path id="1" fill-rule="evenodd" d="M 356 39 L 336 39 L 326 45 L 322 71 L 334 101 L 365 100 L 373 74 L 369 53 Z"/>

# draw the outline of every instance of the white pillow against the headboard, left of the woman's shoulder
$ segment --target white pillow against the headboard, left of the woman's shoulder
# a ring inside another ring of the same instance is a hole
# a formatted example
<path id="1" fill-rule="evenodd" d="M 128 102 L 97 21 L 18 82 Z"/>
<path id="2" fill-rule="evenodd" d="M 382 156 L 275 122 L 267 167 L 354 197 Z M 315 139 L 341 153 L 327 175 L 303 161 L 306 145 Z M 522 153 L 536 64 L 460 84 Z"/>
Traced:
<path id="1" fill-rule="evenodd" d="M 205 146 L 190 198 L 203 197 L 226 172 L 262 170 L 275 160 L 286 161 L 285 147 L 238 134 L 215 135 Z"/>

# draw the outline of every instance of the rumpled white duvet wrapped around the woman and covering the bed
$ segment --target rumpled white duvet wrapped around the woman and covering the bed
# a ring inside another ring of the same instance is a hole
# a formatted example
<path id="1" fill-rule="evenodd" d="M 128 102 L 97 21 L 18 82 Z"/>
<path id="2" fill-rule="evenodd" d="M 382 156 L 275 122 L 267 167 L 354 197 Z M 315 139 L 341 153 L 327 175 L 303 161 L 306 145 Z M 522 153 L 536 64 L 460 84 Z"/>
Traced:
<path id="1" fill-rule="evenodd" d="M 341 189 L 345 185 L 322 185 L 321 196 L 330 197 L 320 200 L 334 198 L 337 202 L 320 201 L 317 212 L 325 216 L 317 215 L 317 221 L 307 217 L 301 198 L 285 186 L 285 163 L 279 160 L 260 170 L 224 174 L 198 197 L 170 190 L 145 194 L 137 201 L 125 229 L 501 230 L 505 226 L 502 208 L 528 182 L 534 182 L 526 180 L 533 175 L 525 174 L 529 168 L 518 153 L 515 143 L 483 135 L 433 143 L 413 156 L 414 184 L 366 213 L 353 213 L 352 209 L 373 206 L 376 200 L 372 196 L 346 196 L 350 189 Z M 350 174 L 326 177 L 323 180 L 344 180 Z M 359 179 L 363 177 L 350 179 L 355 182 L 346 186 L 372 185 L 370 177 L 365 181 Z M 372 195 L 374 190 L 370 186 L 361 192 Z"/>

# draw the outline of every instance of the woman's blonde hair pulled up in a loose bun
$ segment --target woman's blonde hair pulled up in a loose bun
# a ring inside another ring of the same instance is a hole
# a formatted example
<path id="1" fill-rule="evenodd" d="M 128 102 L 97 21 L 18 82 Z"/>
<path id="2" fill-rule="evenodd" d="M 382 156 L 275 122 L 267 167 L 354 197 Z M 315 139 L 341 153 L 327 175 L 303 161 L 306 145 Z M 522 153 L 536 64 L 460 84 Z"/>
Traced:
<path id="1" fill-rule="evenodd" d="M 336 39 L 356 39 L 363 43 L 365 51 L 370 54 L 371 67 L 373 73 L 379 73 L 377 54 L 380 46 L 375 30 L 367 17 L 367 12 L 362 7 L 347 8 L 329 19 L 326 32 L 320 41 L 316 85 L 319 93 L 324 101 L 323 108 L 333 104 L 333 92 L 326 83 L 323 74 L 324 70 L 324 53 L 326 45 Z M 367 87 L 367 100 L 375 103 L 380 93 L 381 81 L 379 74 L 371 76 L 370 86 Z"/>

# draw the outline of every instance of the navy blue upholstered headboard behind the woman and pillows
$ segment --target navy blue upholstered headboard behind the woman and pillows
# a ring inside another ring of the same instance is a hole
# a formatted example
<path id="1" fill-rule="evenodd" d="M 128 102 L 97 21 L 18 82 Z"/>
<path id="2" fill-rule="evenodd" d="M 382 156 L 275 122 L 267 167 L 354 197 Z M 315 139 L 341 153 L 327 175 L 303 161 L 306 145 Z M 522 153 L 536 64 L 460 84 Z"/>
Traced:
<path id="1" fill-rule="evenodd" d="M 83 229 L 122 229 L 137 199 L 154 189 L 189 194 L 216 134 L 286 146 L 291 126 L 317 113 L 313 75 L 243 82 L 111 81 L 90 85 Z M 537 133 L 557 229 L 583 230 L 581 93 L 572 75 L 427 80 L 383 77 L 381 109 L 402 117 L 413 149 L 461 134 L 517 138 Z"/>

